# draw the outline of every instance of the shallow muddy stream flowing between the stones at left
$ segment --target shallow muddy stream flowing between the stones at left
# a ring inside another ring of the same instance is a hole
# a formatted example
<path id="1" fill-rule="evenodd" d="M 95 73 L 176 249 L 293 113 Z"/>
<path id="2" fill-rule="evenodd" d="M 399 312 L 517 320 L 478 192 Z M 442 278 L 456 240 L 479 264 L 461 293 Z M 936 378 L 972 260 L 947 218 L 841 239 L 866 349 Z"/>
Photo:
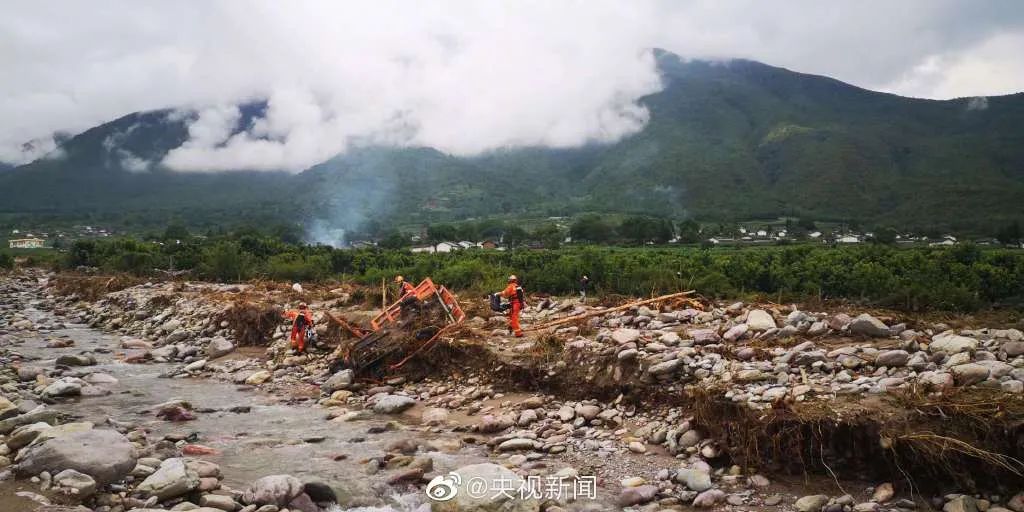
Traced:
<path id="1" fill-rule="evenodd" d="M 38 309 L 38 302 L 23 309 L 37 324 L 52 318 Z M 47 348 L 49 341 L 70 338 L 75 344 L 66 348 Z M 81 373 L 101 372 L 115 377 L 117 384 L 101 385 L 112 391 L 106 396 L 79 397 L 51 406 L 74 417 L 90 421 L 98 428 L 108 419 L 138 425 L 150 432 L 151 441 L 168 434 L 195 434 L 196 442 L 215 449 L 216 455 L 200 458 L 217 463 L 223 483 L 244 489 L 249 482 L 270 474 L 291 474 L 303 481 L 317 480 L 331 485 L 339 501 L 349 508 L 383 507 L 404 510 L 423 503 L 421 492 L 400 494 L 384 483 L 386 475 L 370 476 L 365 461 L 385 454 L 385 447 L 400 439 L 415 438 L 447 450 L 429 452 L 435 471 L 449 471 L 465 464 L 485 460 L 483 449 L 472 444 L 460 447 L 454 434 L 432 433 L 417 425 L 417 413 L 398 418 L 375 415 L 352 422 L 327 421 L 327 411 L 312 404 L 284 403 L 276 397 L 249 387 L 207 379 L 167 379 L 161 374 L 172 365 L 131 365 L 116 358 L 118 336 L 81 325 L 66 325 L 52 331 L 0 335 L 0 344 L 20 354 L 23 365 L 52 369 L 54 360 L 66 353 L 92 352 L 98 365 Z M 197 410 L 194 421 L 171 423 L 157 419 L 153 407 L 173 399 L 184 399 Z M 248 406 L 248 413 L 231 413 L 230 408 Z M 397 420 L 397 427 L 394 420 Z M 388 426 L 390 428 L 383 429 Z M 384 430 L 369 433 L 373 430 Z M 12 497 L 18 489 L 30 489 L 26 481 L 0 482 L 0 510 L 32 510 L 30 502 Z M 6 497 L 6 498 L 4 498 Z"/>

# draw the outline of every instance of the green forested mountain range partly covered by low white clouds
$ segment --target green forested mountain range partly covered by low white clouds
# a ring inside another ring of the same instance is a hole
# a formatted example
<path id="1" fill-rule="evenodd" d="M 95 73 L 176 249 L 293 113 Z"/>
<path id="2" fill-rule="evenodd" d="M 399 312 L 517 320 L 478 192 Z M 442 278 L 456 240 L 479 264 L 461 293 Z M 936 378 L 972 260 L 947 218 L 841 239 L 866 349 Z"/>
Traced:
<path id="1" fill-rule="evenodd" d="M 167 215 L 189 221 L 437 221 L 624 212 L 778 215 L 976 228 L 1024 217 L 1024 94 L 945 101 L 873 92 L 749 60 L 657 51 L 650 121 L 617 143 L 457 158 L 364 147 L 298 175 L 178 173 L 160 160 L 187 117 L 138 113 L 0 173 L 2 212 Z M 262 114 L 244 105 L 238 126 Z"/>

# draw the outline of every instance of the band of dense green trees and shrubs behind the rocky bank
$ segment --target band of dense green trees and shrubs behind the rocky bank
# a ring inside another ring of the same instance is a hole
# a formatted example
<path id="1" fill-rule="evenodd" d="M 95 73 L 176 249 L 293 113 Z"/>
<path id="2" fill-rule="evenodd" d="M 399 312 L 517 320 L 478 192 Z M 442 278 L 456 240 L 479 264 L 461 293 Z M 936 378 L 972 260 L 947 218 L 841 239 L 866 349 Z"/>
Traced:
<path id="1" fill-rule="evenodd" d="M 191 269 L 200 278 L 245 281 L 352 280 L 374 285 L 396 273 L 431 276 L 468 294 L 500 289 L 516 273 L 530 292 L 566 294 L 586 273 L 597 293 L 646 296 L 696 289 L 708 296 L 768 294 L 774 300 L 843 298 L 909 310 L 974 310 L 1024 303 L 1024 251 L 906 248 L 608 248 L 468 250 L 422 254 L 293 245 L 253 233 L 163 244 L 79 241 L 66 267 L 95 266 L 137 274 Z"/>

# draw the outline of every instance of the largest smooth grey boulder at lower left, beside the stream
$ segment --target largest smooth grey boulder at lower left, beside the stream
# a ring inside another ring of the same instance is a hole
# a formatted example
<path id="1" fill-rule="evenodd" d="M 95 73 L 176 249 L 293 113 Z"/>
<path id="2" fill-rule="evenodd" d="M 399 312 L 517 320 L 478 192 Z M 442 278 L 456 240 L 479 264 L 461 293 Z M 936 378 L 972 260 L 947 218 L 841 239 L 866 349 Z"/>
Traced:
<path id="1" fill-rule="evenodd" d="M 37 475 L 74 469 L 103 485 L 125 477 L 138 455 L 127 437 L 114 430 L 86 430 L 47 439 L 18 454 L 15 472 Z"/>

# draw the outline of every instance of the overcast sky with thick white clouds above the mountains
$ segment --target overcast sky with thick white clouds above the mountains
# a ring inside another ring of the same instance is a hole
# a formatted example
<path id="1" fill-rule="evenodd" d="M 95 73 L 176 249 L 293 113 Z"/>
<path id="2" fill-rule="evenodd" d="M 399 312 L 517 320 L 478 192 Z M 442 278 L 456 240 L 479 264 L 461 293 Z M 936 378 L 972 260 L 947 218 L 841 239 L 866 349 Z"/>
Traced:
<path id="1" fill-rule="evenodd" d="M 201 113 L 162 162 L 182 171 L 301 170 L 353 139 L 461 155 L 611 141 L 646 120 L 651 47 L 910 96 L 1024 91 L 1017 0 L 7 0 L 0 161 L 168 106 Z M 256 98 L 267 115 L 232 136 Z"/>

